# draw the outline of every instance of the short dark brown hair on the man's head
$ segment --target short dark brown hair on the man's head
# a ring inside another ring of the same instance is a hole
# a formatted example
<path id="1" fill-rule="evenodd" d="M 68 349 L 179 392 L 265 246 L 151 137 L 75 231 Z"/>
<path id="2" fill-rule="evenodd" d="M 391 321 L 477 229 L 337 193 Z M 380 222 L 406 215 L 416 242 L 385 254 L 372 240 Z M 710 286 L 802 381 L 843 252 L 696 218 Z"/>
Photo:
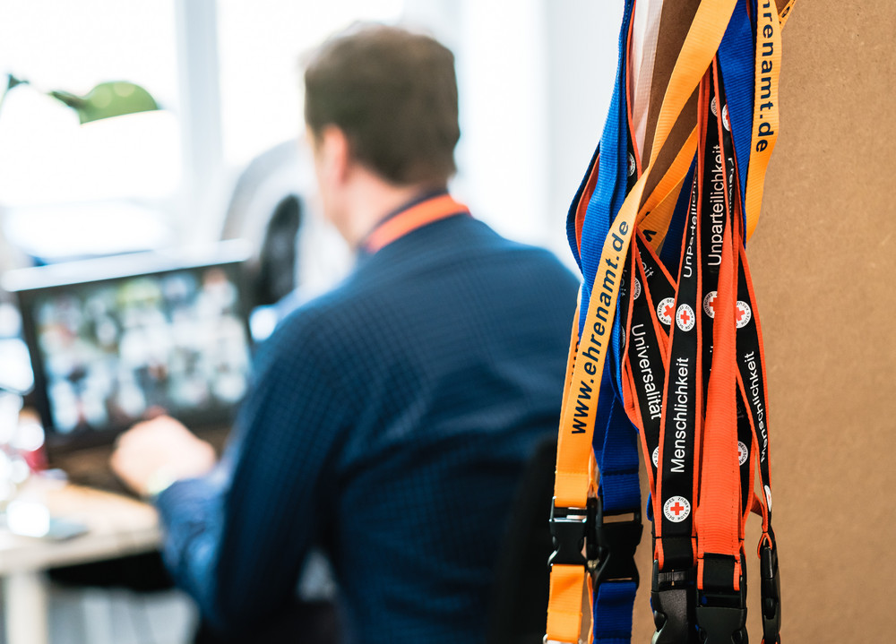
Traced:
<path id="1" fill-rule="evenodd" d="M 354 27 L 307 64 L 305 120 L 314 136 L 339 127 L 354 159 L 393 184 L 444 185 L 461 136 L 454 56 L 428 36 Z"/>

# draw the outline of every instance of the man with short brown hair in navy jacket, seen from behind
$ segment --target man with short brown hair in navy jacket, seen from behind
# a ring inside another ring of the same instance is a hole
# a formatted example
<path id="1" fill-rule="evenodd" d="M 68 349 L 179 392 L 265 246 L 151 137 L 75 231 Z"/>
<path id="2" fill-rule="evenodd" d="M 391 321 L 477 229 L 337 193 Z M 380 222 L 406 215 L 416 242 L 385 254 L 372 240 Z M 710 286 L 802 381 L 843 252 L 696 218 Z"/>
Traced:
<path id="1" fill-rule="evenodd" d="M 556 432 L 577 283 L 445 192 L 446 48 L 354 30 L 305 82 L 323 211 L 358 266 L 259 350 L 218 468 L 170 418 L 125 434 L 113 467 L 157 494 L 169 570 L 221 631 L 288 605 L 318 545 L 350 640 L 482 641 L 515 485 Z"/>

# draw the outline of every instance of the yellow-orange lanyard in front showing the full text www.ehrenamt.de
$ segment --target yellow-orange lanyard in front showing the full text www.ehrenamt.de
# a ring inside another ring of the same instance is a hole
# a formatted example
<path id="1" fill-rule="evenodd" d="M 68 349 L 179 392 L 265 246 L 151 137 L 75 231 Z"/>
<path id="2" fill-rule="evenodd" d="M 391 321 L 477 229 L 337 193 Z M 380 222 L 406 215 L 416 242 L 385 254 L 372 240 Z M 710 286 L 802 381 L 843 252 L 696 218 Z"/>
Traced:
<path id="1" fill-rule="evenodd" d="M 720 26 L 727 24 L 733 7 L 734 0 L 719 0 L 704 2 L 698 8 L 663 99 L 650 163 L 613 216 L 607 234 L 602 237 L 602 244 L 600 236 L 597 240 L 589 238 L 589 212 L 586 212 L 583 222 L 580 254 L 584 255 L 587 248 L 593 257 L 599 259 L 590 264 L 594 268 L 593 278 L 589 274 L 585 276 L 586 282 L 590 281 L 587 288 L 588 305 L 587 308 L 582 306 L 580 310 L 583 322 L 576 321 L 577 325 L 581 324 L 582 333 L 578 348 L 574 354 L 571 352 L 573 359 L 567 365 L 567 380 L 570 384 L 564 398 L 557 445 L 552 517 L 557 550 L 551 566 L 547 640 L 577 642 L 581 634 L 581 597 L 587 561 L 582 561 L 582 554 L 576 552 L 576 545 L 581 547 L 584 539 L 589 493 L 594 486 L 591 438 L 597 419 L 597 400 L 591 392 L 600 391 L 604 376 L 610 336 L 616 322 L 620 267 L 625 266 L 625 253 L 631 243 L 656 153 L 665 144 L 672 124 L 718 50 L 724 33 Z M 602 148 L 597 156 L 602 158 L 605 153 L 607 150 Z M 686 165 L 685 163 L 685 167 Z M 676 181 L 675 184 L 677 183 Z M 599 254 L 594 253 L 598 248 Z M 585 292 L 586 289 L 583 288 L 583 294 Z M 625 551 L 618 558 L 623 563 L 630 559 Z"/>

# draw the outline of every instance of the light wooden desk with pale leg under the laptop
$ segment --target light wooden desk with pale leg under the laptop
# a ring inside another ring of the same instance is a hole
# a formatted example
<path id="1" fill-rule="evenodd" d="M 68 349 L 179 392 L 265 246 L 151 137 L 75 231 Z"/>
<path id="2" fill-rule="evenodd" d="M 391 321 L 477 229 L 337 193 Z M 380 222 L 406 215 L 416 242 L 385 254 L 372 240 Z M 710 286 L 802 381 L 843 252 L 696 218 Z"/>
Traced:
<path id="1" fill-rule="evenodd" d="M 16 537 L 0 531 L 7 644 L 47 644 L 48 582 L 55 566 L 96 562 L 159 546 L 159 517 L 147 503 L 86 487 L 31 481 L 24 494 L 37 496 L 54 516 L 82 521 L 87 534 L 67 541 Z"/>

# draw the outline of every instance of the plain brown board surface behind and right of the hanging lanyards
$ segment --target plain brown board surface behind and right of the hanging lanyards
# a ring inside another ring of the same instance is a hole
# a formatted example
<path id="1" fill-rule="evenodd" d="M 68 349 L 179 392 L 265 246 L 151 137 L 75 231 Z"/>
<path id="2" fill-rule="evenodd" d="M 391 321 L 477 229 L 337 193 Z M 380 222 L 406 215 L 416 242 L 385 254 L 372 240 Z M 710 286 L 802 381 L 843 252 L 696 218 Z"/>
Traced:
<path id="1" fill-rule="evenodd" d="M 665 14 L 664 14 L 665 16 Z M 896 609 L 896 4 L 802 0 L 748 254 L 768 361 L 782 641 L 890 641 Z M 746 545 L 750 639 L 762 639 Z M 636 642 L 650 641 L 649 537 Z"/>

